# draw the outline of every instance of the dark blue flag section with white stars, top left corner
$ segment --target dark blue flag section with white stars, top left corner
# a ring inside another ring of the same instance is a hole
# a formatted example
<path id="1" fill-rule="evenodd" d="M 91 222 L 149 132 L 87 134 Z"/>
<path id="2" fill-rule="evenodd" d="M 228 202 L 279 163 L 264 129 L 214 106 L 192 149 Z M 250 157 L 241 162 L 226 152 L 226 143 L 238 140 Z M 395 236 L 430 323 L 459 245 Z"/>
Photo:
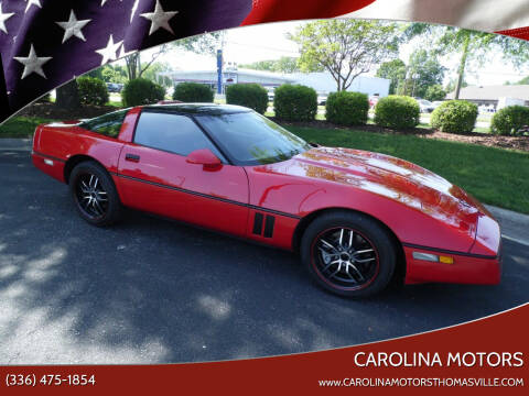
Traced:
<path id="1" fill-rule="evenodd" d="M 107 62 L 237 26 L 250 10 L 250 0 L 0 1 L 0 121 Z"/>

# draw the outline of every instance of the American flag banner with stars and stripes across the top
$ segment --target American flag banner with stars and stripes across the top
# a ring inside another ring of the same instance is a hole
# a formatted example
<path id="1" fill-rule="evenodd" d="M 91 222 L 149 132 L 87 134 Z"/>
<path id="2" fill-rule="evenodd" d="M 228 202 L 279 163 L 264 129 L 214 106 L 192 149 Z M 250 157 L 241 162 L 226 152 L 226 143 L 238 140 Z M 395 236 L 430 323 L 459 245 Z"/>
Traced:
<path id="1" fill-rule="evenodd" d="M 507 13 L 504 2 L 485 1 L 489 4 L 496 3 L 495 15 Z M 519 1 L 527 0 L 512 0 L 512 2 Z M 369 10 L 377 4 L 382 6 L 382 2 L 388 7 L 381 7 L 375 11 L 375 14 L 369 15 Z M 413 15 L 417 15 L 415 11 L 424 8 L 427 2 L 424 0 L 0 0 L 0 122 L 76 76 L 134 51 L 177 38 L 238 25 L 332 18 L 360 9 L 367 10 L 365 15 L 380 19 L 391 18 L 393 14 L 402 13 L 402 10 L 410 10 L 409 14 L 404 12 L 403 19 L 413 20 Z M 445 0 L 441 3 L 455 7 L 462 3 L 476 3 L 476 1 Z M 465 10 L 465 8 L 462 9 Z M 520 12 L 515 15 L 529 16 L 527 7 L 520 7 Z M 435 22 L 438 16 L 435 14 L 431 16 L 431 21 Z M 450 20 L 443 20 L 443 23 L 450 23 Z M 510 24 L 508 28 L 527 25 Z M 529 38 L 528 32 L 529 29 L 518 29 L 504 33 Z"/>

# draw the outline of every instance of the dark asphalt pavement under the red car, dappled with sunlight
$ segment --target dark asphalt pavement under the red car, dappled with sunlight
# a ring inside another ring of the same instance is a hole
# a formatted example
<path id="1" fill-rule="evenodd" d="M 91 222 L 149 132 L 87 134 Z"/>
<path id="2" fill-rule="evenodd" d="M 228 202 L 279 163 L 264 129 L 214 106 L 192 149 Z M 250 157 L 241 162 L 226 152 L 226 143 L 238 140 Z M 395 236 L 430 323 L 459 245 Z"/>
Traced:
<path id="1" fill-rule="evenodd" d="M 438 329 L 529 300 L 529 246 L 519 234 L 504 240 L 500 285 L 392 287 L 352 300 L 319 288 L 288 252 L 132 211 L 116 227 L 90 227 L 67 187 L 35 169 L 24 151 L 0 150 L 0 364 L 306 352 Z"/>

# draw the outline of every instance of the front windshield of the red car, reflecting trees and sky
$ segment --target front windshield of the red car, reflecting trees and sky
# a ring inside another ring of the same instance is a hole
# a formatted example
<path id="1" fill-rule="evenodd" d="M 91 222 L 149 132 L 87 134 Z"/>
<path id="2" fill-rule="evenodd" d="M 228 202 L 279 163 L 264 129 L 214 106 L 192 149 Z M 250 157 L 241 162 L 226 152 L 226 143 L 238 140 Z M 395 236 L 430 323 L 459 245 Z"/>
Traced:
<path id="1" fill-rule="evenodd" d="M 302 139 L 253 111 L 196 119 L 237 165 L 287 161 L 311 148 Z"/>

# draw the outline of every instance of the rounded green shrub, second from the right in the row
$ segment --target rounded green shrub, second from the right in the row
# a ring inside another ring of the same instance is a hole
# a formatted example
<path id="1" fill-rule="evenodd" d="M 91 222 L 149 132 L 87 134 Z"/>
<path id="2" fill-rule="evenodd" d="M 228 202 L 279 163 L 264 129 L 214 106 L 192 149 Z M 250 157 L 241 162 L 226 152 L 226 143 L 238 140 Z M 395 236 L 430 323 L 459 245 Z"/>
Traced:
<path id="1" fill-rule="evenodd" d="M 450 133 L 469 133 L 477 120 L 477 106 L 466 100 L 449 100 L 432 113 L 434 129 Z"/>

